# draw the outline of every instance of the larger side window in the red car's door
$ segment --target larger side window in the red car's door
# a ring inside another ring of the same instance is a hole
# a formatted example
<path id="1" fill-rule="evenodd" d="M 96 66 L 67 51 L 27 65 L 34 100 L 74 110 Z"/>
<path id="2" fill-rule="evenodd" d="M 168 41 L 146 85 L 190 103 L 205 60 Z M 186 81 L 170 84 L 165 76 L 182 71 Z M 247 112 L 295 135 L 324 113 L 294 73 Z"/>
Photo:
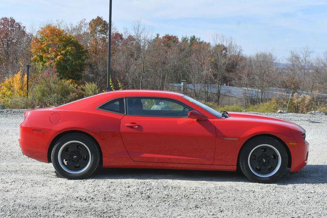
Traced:
<path id="1" fill-rule="evenodd" d="M 188 117 L 192 108 L 161 98 L 127 98 L 127 114 L 138 116 Z"/>

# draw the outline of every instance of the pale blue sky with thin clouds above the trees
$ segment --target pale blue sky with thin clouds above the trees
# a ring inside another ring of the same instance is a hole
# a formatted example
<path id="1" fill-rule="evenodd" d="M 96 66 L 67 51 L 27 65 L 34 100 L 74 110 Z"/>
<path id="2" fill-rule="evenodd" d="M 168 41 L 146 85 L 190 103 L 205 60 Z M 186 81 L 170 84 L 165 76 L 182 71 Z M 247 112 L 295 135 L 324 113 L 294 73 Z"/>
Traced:
<path id="1" fill-rule="evenodd" d="M 105 0 L 0 0 L 0 16 L 12 16 L 28 30 L 63 20 L 77 23 L 97 15 L 108 19 Z M 141 20 L 150 33 L 232 37 L 247 55 L 272 52 L 281 62 L 290 50 L 309 46 L 312 55 L 327 51 L 327 0 L 113 0 L 116 29 Z"/>

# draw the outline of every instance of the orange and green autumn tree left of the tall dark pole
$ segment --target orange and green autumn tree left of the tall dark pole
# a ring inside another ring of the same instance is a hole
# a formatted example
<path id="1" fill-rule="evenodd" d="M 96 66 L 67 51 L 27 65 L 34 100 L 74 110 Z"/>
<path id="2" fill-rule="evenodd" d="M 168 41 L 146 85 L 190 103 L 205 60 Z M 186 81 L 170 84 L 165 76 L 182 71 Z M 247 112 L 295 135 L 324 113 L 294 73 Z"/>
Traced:
<path id="1" fill-rule="evenodd" d="M 87 51 L 74 36 L 55 26 L 45 26 L 31 43 L 33 57 L 40 66 L 53 67 L 61 79 L 80 80 Z"/>

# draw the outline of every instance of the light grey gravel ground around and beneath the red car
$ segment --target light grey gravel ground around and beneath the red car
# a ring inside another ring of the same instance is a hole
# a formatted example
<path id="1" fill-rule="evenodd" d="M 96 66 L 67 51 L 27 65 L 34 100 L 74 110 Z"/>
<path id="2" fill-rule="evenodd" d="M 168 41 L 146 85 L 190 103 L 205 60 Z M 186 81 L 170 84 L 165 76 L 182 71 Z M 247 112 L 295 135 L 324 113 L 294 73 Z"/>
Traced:
<path id="1" fill-rule="evenodd" d="M 60 178 L 52 164 L 22 155 L 24 110 L 0 110 L 0 217 L 303 217 L 327 216 L 327 116 L 267 114 L 307 130 L 309 164 L 277 184 L 236 172 L 100 169 L 91 178 Z"/>

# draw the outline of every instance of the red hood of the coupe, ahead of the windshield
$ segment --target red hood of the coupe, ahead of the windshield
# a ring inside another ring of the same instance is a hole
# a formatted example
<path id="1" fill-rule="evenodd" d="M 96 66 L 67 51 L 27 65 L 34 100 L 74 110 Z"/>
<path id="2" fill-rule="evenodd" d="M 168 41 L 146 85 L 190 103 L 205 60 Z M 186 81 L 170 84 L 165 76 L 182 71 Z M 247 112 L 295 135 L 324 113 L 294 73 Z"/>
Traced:
<path id="1" fill-rule="evenodd" d="M 278 119 L 270 116 L 264 116 L 264 115 L 258 115 L 258 114 L 251 114 L 251 113 L 240 113 L 240 112 L 228 112 L 230 117 L 232 119 L 247 119 L 252 120 L 253 122 L 259 122 L 259 123 L 266 123 L 271 125 L 279 125 L 291 128 L 293 130 L 300 131 L 302 133 L 305 133 L 306 130 L 302 127 L 298 126 L 297 124 L 294 124 L 292 122 L 289 122 L 284 119 Z"/>

